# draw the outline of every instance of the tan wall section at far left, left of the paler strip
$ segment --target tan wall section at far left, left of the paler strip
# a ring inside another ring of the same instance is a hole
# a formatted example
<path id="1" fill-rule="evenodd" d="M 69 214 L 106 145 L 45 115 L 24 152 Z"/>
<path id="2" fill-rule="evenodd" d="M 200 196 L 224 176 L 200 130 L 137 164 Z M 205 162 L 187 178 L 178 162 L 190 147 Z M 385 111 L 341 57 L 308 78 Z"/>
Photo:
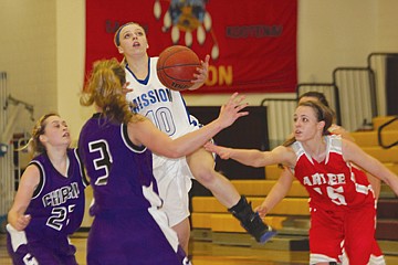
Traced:
<path id="1" fill-rule="evenodd" d="M 10 94 L 34 105 L 35 118 L 57 110 L 55 15 L 52 0 L 0 1 L 0 71 Z M 17 124 L 18 131 L 32 127 L 29 113 Z"/>

